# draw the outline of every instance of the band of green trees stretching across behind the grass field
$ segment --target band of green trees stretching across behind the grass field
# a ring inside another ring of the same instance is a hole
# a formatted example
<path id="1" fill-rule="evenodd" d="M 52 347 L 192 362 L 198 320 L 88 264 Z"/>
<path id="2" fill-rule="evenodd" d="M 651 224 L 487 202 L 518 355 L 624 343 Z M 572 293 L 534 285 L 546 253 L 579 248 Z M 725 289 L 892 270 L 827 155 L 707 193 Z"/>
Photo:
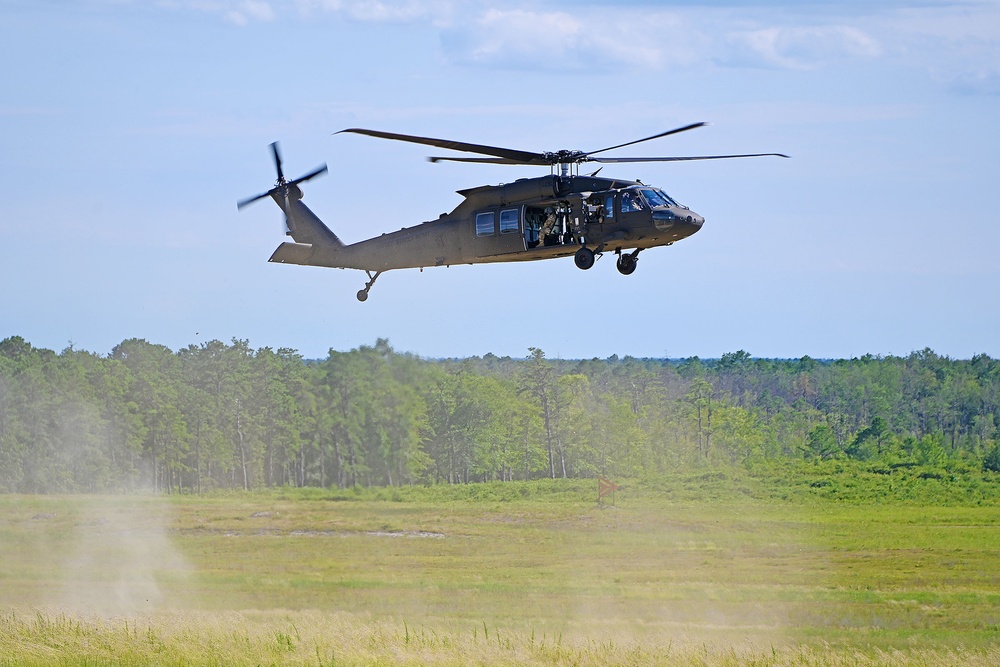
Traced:
<path id="1" fill-rule="evenodd" d="M 325 359 L 213 340 L 0 341 L 0 491 L 200 493 L 644 477 L 783 459 L 1000 472 L 1000 361 Z"/>

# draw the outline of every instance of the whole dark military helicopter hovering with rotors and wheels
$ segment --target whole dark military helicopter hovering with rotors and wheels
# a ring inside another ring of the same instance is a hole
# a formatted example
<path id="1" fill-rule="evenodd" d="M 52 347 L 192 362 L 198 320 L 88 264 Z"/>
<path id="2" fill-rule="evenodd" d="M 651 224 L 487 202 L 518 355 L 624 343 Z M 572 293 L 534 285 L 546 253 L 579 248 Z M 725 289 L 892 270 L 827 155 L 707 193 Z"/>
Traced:
<path id="1" fill-rule="evenodd" d="M 359 301 L 366 301 L 378 277 L 392 269 L 423 270 L 430 266 L 521 262 L 572 255 L 577 267 L 586 270 L 601 254 L 613 252 L 618 257 L 618 271 L 631 275 L 641 251 L 669 246 L 687 238 L 701 229 L 705 219 L 659 188 L 640 181 L 598 177 L 603 166 L 589 175 L 581 175 L 580 165 L 788 157 L 781 153 L 691 157 L 598 156 L 598 153 L 704 125 L 693 123 L 596 151 L 561 150 L 555 153 L 532 153 L 349 128 L 335 134 L 349 132 L 488 156 L 429 157 L 431 162 L 547 166 L 549 174 L 513 183 L 459 190 L 458 194 L 464 197 L 464 201 L 451 213 L 442 213 L 437 220 L 345 245 L 302 203 L 299 185 L 325 173 L 326 165 L 288 181 L 281 168 L 278 144 L 273 143 L 271 152 L 278 172 L 277 182 L 267 192 L 237 202 L 237 208 L 242 209 L 265 197 L 273 199 L 285 214 L 286 234 L 294 242 L 278 246 L 269 261 L 364 271 L 368 281 L 358 291 Z"/>

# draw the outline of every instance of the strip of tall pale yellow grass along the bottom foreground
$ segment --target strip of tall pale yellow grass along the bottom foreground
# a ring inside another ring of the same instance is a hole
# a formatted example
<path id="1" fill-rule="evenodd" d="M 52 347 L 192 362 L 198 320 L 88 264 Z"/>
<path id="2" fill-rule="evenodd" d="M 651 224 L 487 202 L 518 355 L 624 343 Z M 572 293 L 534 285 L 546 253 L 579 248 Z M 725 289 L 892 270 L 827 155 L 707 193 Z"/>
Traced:
<path id="1" fill-rule="evenodd" d="M 677 632 L 587 639 L 469 624 L 451 631 L 347 613 L 170 613 L 133 620 L 0 616 L 0 666 L 574 665 L 736 667 L 1000 664 L 1000 647 L 880 649 L 755 644 Z"/>

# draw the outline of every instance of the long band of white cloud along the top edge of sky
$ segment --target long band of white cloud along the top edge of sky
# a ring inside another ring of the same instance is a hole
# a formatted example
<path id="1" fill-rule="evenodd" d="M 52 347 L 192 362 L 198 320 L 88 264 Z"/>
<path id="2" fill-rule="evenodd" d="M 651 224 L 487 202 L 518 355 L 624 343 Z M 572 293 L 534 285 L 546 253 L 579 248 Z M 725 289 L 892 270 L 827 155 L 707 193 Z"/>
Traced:
<path id="1" fill-rule="evenodd" d="M 895 60 L 965 93 L 1000 89 L 1000 3 L 699 0 L 159 0 L 235 25 L 347 20 L 436 30 L 453 64 L 536 71 L 814 70 Z"/>

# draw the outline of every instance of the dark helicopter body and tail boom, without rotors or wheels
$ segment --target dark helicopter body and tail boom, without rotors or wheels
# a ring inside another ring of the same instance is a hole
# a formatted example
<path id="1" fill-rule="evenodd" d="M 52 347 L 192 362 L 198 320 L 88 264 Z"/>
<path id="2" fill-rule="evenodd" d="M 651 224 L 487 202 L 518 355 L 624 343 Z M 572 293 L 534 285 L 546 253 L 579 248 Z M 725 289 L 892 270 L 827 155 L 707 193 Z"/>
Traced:
<path id="1" fill-rule="evenodd" d="M 550 259 L 581 248 L 637 252 L 670 245 L 704 223 L 662 191 L 636 181 L 549 175 L 459 191 L 464 201 L 437 220 L 344 245 L 295 190 L 290 200 L 274 195 L 279 206 L 288 202 L 288 233 L 295 243 L 283 243 L 270 261 L 376 274 Z"/>

